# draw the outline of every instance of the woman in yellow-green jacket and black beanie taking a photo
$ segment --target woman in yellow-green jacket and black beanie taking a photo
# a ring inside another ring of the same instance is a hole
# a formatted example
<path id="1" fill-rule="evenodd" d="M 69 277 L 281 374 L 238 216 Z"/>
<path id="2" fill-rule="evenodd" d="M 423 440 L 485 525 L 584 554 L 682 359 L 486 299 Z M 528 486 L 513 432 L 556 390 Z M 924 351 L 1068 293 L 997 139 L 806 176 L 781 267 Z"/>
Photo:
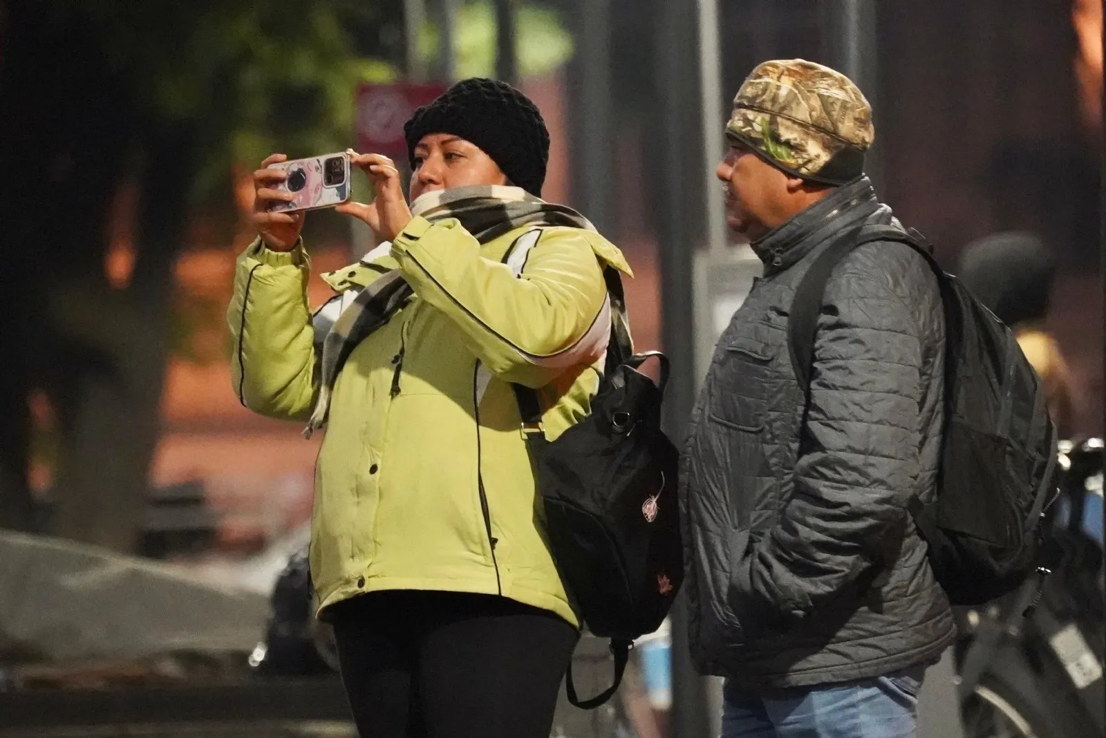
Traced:
<path id="1" fill-rule="evenodd" d="M 324 275 L 343 294 L 321 352 L 303 214 L 268 210 L 288 197 L 265 168 L 284 157 L 255 172 L 260 238 L 229 312 L 234 389 L 309 432 L 325 421 L 311 569 L 361 735 L 544 738 L 578 620 L 511 383 L 539 390 L 551 437 L 584 417 L 609 333 L 603 268 L 629 270 L 539 199 L 549 134 L 511 86 L 460 82 L 404 129 L 410 208 L 390 160 L 353 156 L 376 199 L 338 210 L 384 243 Z M 384 289 L 401 307 L 366 329 L 362 298 Z"/>

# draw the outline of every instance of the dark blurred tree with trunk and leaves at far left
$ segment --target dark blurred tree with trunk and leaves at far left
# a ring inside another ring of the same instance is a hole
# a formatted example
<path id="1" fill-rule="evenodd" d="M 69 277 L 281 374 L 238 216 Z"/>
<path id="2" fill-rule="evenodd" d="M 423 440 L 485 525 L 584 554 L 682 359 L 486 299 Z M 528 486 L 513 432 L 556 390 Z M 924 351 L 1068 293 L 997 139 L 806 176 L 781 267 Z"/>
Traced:
<path id="1" fill-rule="evenodd" d="M 173 264 L 190 208 L 279 148 L 345 148 L 358 81 L 395 76 L 401 4 L 0 2 L 7 239 L 0 526 L 27 529 L 28 397 L 61 421 L 51 533 L 133 550 L 157 441 Z M 371 56 L 376 56 L 373 59 Z M 125 284 L 108 226 L 137 192 Z"/>

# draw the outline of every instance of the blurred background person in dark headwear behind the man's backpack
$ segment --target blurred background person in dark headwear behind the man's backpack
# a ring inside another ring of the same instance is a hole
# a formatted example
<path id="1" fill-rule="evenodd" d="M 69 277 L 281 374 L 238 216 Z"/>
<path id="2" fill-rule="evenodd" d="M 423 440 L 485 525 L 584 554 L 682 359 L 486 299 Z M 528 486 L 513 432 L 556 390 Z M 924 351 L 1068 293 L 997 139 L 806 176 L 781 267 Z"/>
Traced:
<path id="1" fill-rule="evenodd" d="M 1010 326 L 1044 382 L 1060 437 L 1072 430 L 1072 380 L 1060 344 L 1045 327 L 1056 260 L 1032 233 L 1009 231 L 972 241 L 960 254 L 960 281 Z"/>

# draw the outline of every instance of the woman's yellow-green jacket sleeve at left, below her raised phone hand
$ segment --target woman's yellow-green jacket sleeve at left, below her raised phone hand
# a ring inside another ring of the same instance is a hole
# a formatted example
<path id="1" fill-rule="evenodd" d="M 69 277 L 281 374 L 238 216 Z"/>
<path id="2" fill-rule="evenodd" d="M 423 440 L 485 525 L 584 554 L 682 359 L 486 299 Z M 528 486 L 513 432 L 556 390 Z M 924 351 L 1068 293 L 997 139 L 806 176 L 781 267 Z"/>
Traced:
<path id="1" fill-rule="evenodd" d="M 310 274 L 302 241 L 282 253 L 258 239 L 238 257 L 227 310 L 231 379 L 239 401 L 262 415 L 302 420 L 311 413 L 317 388 Z"/>

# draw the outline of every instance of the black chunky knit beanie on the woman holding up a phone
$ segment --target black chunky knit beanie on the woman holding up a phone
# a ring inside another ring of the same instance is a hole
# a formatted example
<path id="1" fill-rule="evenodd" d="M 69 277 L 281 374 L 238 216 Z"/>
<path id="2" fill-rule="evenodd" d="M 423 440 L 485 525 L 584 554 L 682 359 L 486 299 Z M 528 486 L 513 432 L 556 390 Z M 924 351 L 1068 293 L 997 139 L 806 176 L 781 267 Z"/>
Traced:
<path id="1" fill-rule="evenodd" d="M 452 134 L 479 146 L 511 183 L 542 194 L 550 134 L 529 97 L 495 80 L 461 80 L 404 124 L 407 158 L 415 169 L 415 147 L 428 134 Z"/>

